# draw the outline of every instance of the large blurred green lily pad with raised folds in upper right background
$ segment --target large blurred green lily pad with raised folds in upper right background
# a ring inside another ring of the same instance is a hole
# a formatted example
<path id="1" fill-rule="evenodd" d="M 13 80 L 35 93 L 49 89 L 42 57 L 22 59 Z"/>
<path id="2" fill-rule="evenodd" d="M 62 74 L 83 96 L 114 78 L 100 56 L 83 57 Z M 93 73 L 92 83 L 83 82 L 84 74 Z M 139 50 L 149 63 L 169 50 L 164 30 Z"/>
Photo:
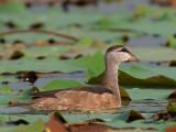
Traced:
<path id="1" fill-rule="evenodd" d="M 120 16 L 117 18 L 118 15 Z M 118 12 L 116 15 L 100 20 L 97 28 L 113 31 L 123 30 L 133 32 L 133 34 L 147 33 L 169 36 L 175 33 L 176 19 L 174 15 L 174 10 L 139 6 L 135 14 L 121 16 L 121 13 Z"/>

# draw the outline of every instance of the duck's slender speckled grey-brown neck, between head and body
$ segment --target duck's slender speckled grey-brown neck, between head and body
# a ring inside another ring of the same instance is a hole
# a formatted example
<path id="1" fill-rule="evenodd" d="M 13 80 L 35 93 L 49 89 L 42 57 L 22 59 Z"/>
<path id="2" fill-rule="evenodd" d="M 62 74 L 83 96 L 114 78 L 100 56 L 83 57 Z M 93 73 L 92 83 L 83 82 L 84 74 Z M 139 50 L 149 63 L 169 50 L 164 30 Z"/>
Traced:
<path id="1" fill-rule="evenodd" d="M 101 86 L 110 89 L 117 100 L 121 103 L 120 89 L 118 85 L 118 69 L 119 65 L 106 64 L 106 72 Z"/>

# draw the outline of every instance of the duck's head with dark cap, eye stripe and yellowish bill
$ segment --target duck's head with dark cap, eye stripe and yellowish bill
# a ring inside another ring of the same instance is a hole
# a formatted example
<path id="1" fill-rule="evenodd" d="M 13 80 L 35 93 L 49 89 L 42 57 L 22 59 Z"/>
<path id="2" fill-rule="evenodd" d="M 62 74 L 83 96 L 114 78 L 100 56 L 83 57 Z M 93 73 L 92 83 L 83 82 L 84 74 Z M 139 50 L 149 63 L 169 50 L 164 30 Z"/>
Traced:
<path id="1" fill-rule="evenodd" d="M 122 62 L 140 62 L 132 53 L 129 52 L 127 46 L 114 45 L 106 52 L 106 63 L 108 64 L 120 64 Z"/>

